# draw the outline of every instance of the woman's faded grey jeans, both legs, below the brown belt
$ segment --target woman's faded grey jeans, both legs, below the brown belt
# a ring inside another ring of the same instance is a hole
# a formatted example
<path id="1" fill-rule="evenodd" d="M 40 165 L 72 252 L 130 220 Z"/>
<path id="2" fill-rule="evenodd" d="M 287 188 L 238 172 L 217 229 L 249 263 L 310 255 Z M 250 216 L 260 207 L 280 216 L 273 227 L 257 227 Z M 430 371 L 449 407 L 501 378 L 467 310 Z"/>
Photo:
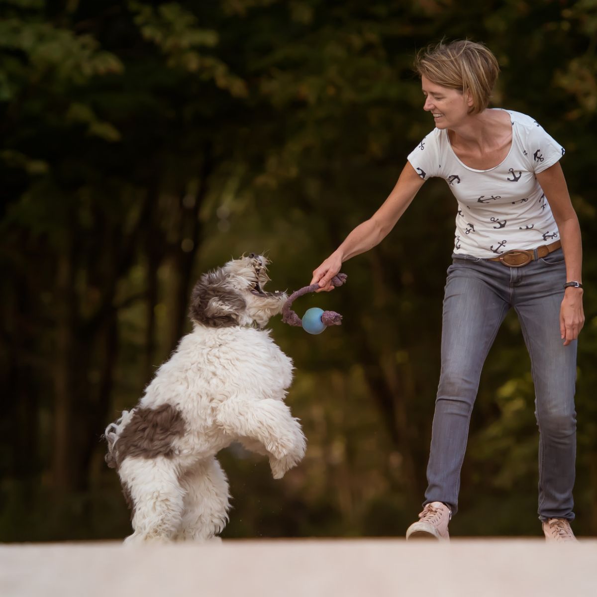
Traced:
<path id="1" fill-rule="evenodd" d="M 566 268 L 561 249 L 523 267 L 454 254 L 448 268 L 442 368 L 425 493 L 427 504 L 458 509 L 460 469 L 481 368 L 507 310 L 514 307 L 531 356 L 539 428 L 541 520 L 574 519 L 576 348 L 563 346 L 559 311 Z"/>

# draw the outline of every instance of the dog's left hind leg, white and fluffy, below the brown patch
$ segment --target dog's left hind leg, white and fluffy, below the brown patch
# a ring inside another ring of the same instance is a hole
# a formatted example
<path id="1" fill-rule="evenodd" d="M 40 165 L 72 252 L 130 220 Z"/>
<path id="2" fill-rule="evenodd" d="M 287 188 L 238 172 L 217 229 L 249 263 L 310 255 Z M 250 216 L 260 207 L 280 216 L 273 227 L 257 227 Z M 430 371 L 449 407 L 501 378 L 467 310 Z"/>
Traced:
<path id="1" fill-rule="evenodd" d="M 133 506 L 133 531 L 125 543 L 172 540 L 180 527 L 184 490 L 173 458 L 125 458 L 118 469 Z"/>

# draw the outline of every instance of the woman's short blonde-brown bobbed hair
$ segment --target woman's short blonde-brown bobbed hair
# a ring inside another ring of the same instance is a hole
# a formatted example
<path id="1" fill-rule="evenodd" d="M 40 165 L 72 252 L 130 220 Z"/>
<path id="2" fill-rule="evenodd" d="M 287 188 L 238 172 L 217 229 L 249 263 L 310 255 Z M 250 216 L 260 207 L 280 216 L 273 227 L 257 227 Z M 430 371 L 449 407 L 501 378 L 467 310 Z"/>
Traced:
<path id="1" fill-rule="evenodd" d="M 489 104 L 491 91 L 500 72 L 496 57 L 483 44 L 460 39 L 450 44 L 439 42 L 417 53 L 414 67 L 419 76 L 442 87 L 467 91 L 473 99 L 472 114 Z"/>

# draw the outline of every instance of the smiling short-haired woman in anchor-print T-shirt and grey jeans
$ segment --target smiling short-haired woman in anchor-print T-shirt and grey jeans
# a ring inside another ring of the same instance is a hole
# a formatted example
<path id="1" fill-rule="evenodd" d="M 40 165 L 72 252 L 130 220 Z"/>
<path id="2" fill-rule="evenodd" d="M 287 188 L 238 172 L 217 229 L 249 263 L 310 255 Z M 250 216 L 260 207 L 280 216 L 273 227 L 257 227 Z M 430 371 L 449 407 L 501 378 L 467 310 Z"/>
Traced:
<path id="1" fill-rule="evenodd" d="M 539 519 L 546 540 L 574 541 L 576 338 L 584 315 L 580 227 L 559 165 L 564 149 L 530 116 L 487 108 L 499 67 L 484 45 L 439 44 L 419 54 L 415 67 L 436 128 L 408 156 L 384 204 L 313 272 L 312 284 L 333 290 L 343 261 L 377 245 L 424 181 L 445 179 L 458 202 L 456 239 L 429 485 L 407 538 L 449 538 L 481 368 L 514 307 L 536 392 Z"/>

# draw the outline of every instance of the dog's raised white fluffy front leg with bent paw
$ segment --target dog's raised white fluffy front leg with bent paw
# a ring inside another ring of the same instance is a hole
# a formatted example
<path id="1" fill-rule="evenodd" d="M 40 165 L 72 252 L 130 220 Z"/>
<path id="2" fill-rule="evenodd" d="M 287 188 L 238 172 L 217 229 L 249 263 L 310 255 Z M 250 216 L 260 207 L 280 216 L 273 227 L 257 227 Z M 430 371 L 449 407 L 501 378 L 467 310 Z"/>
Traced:
<path id="1" fill-rule="evenodd" d="M 229 435 L 259 442 L 270 455 L 275 479 L 282 478 L 303 459 L 306 449 L 303 431 L 281 400 L 235 396 L 220 404 L 216 420 Z"/>

